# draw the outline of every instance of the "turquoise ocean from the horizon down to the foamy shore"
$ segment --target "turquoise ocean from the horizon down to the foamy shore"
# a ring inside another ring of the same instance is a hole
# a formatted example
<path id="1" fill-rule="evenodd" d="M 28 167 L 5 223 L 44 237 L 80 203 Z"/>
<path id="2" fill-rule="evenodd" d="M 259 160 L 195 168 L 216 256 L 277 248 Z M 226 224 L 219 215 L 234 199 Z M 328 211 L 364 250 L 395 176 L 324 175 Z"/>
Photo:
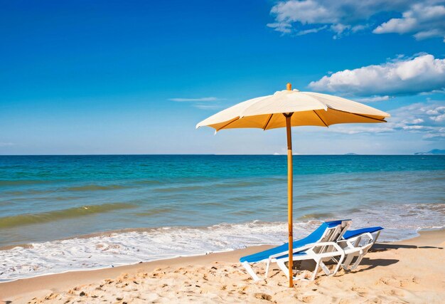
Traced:
<path id="1" fill-rule="evenodd" d="M 286 241 L 286 156 L 0 156 L 0 281 Z M 445 156 L 294 156 L 294 237 L 445 226 Z"/>

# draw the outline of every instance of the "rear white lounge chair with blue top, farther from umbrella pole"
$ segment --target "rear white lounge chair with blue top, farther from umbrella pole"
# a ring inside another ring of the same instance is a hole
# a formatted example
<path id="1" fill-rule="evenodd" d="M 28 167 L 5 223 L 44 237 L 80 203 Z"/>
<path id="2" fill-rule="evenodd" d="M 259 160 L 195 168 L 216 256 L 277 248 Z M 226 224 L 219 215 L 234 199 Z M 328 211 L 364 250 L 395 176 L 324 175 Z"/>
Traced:
<path id="1" fill-rule="evenodd" d="M 345 251 L 345 259 L 343 263 L 341 263 L 345 271 L 353 271 L 357 268 L 365 254 L 368 253 L 368 250 L 377 241 L 382 230 L 382 227 L 376 226 L 350 230 L 343 234 L 343 239 L 337 243 L 343 248 L 343 251 Z M 354 258 L 356 258 L 355 262 L 353 266 L 350 266 Z M 335 258 L 333 258 L 333 260 L 336 261 Z"/>

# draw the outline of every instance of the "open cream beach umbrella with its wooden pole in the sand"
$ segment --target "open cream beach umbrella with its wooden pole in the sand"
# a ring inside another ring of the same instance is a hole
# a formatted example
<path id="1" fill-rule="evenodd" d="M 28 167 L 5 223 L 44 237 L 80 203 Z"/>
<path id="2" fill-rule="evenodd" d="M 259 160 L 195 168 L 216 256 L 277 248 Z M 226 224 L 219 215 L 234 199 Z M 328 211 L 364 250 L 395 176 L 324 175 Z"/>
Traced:
<path id="1" fill-rule="evenodd" d="M 345 98 L 292 90 L 291 84 L 286 90 L 274 95 L 253 98 L 238 103 L 199 122 L 196 128 L 213 127 L 215 132 L 224 129 L 256 127 L 263 130 L 286 127 L 287 135 L 287 201 L 289 223 L 289 287 L 293 284 L 292 273 L 292 140 L 291 127 L 313 125 L 328 127 L 338 123 L 386 122 L 390 117 L 368 105 L 356 103 Z"/>

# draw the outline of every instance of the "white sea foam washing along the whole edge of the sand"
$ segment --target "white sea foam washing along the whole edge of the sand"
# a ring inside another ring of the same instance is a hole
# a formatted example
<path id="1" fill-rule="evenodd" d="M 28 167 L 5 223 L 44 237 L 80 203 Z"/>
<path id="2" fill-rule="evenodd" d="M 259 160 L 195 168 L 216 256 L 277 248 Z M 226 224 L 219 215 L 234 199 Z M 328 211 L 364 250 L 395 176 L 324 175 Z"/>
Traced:
<path id="1" fill-rule="evenodd" d="M 445 204 L 405 204 L 353 212 L 353 227 L 385 226 L 380 241 L 416 236 L 419 229 L 441 229 Z M 438 216 L 439 215 L 439 216 Z M 320 221 L 298 222 L 296 239 L 306 236 Z M 176 256 L 228 251 L 246 246 L 286 241 L 287 224 L 252 221 L 209 227 L 163 227 L 124 231 L 89 238 L 32 243 L 0 251 L 0 281 L 64 271 L 105 268 Z"/>

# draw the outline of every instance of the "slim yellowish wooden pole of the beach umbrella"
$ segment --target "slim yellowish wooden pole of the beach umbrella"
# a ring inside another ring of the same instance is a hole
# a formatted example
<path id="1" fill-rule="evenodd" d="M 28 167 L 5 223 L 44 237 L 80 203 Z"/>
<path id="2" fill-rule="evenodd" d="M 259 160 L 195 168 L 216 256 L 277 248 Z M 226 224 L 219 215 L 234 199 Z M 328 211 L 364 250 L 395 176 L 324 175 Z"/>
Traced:
<path id="1" fill-rule="evenodd" d="M 289 224 L 289 287 L 294 286 L 294 273 L 292 272 L 292 264 L 294 261 L 294 238 L 292 223 L 292 194 L 293 194 L 293 168 L 292 168 L 292 137 L 291 137 L 291 116 L 294 113 L 284 114 L 286 117 L 286 133 L 287 133 L 287 222 Z"/>

